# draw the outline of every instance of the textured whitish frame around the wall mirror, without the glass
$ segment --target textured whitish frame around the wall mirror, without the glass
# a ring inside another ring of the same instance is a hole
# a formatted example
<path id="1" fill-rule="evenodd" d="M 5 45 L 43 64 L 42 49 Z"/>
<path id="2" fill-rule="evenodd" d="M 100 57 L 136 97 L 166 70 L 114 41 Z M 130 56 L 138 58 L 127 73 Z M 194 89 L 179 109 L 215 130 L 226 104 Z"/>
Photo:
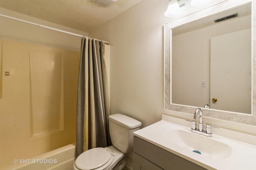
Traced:
<path id="1" fill-rule="evenodd" d="M 205 117 L 243 123 L 247 125 L 256 125 L 256 14 L 253 9 L 256 9 L 256 0 L 226 0 L 214 6 L 184 16 L 177 20 L 170 21 L 164 24 L 164 109 L 179 111 L 183 113 L 194 114 L 197 107 L 184 106 L 171 103 L 171 52 L 172 52 L 172 28 L 178 27 L 185 23 L 216 14 L 225 10 L 242 6 L 252 2 L 252 114 L 234 113 L 229 111 L 221 111 L 214 109 L 204 109 Z M 255 20 L 255 21 L 254 21 Z"/>

